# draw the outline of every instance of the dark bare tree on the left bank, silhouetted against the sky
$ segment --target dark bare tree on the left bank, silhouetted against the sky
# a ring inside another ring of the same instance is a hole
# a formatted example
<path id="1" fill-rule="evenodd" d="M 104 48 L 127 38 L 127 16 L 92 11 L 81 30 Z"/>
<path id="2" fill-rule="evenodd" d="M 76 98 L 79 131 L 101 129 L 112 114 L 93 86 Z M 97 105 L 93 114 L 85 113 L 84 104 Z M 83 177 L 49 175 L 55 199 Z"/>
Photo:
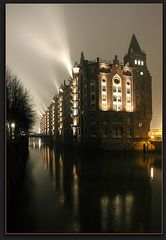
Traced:
<path id="1" fill-rule="evenodd" d="M 9 68 L 6 70 L 7 124 L 14 123 L 15 133 L 28 132 L 35 122 L 34 104 L 29 91 Z"/>

